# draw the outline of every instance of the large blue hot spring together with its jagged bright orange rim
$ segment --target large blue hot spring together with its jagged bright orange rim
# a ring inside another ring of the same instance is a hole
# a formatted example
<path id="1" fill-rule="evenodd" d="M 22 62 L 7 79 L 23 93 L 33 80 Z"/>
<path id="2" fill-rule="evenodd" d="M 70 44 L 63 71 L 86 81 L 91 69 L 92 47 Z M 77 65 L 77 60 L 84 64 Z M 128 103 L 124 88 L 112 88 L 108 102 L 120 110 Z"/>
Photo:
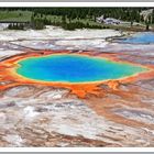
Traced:
<path id="1" fill-rule="evenodd" d="M 94 57 L 88 55 L 88 52 L 85 54 L 68 54 L 68 52 L 59 51 L 59 54 L 55 54 L 54 51 L 43 51 L 44 56 L 33 53 L 25 57 L 22 55 L 12 57 L 4 62 L 4 65 L 12 66 L 6 69 L 4 74 L 19 85 L 26 82 L 64 87 L 84 98 L 87 94 L 99 91 L 98 86 L 101 84 L 107 82 L 117 89 L 119 80 L 131 81 L 151 70 L 144 66 L 116 62 L 108 54 Z"/>

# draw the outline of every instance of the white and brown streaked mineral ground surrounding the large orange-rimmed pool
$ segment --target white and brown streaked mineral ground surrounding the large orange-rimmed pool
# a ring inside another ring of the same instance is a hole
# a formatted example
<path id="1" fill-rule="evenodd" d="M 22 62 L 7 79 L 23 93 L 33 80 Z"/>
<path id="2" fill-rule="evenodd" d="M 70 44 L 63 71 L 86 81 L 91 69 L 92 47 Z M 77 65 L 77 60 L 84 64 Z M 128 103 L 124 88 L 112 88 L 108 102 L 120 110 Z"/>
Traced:
<path id="1" fill-rule="evenodd" d="M 116 55 L 154 68 L 154 44 L 119 44 L 113 30 L 0 31 L 0 63 L 40 50 L 84 50 Z M 2 69 L 0 68 L 0 72 Z M 1 79 L 1 76 L 0 76 Z M 6 79 L 0 87 L 13 84 Z M 0 146 L 154 146 L 154 77 L 100 85 L 99 95 L 78 98 L 69 89 L 19 85 L 0 90 Z"/>

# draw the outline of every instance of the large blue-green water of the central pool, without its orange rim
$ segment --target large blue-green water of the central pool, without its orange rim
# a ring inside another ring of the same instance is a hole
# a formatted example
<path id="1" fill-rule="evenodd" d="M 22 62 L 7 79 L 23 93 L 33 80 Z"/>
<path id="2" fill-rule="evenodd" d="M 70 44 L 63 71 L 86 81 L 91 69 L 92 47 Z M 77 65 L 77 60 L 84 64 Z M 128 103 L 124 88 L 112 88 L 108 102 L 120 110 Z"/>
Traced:
<path id="1" fill-rule="evenodd" d="M 118 79 L 145 72 L 146 68 L 101 57 L 56 54 L 29 57 L 19 62 L 16 73 L 41 81 L 91 82 Z"/>

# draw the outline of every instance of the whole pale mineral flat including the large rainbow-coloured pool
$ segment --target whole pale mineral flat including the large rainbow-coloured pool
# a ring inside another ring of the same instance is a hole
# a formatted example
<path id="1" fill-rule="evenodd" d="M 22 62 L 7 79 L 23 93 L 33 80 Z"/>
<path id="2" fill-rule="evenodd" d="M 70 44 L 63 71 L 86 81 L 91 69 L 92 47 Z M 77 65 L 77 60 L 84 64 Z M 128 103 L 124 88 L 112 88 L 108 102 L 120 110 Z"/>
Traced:
<path id="1" fill-rule="evenodd" d="M 154 146 L 152 43 L 53 26 L 3 35 L 0 146 Z"/>

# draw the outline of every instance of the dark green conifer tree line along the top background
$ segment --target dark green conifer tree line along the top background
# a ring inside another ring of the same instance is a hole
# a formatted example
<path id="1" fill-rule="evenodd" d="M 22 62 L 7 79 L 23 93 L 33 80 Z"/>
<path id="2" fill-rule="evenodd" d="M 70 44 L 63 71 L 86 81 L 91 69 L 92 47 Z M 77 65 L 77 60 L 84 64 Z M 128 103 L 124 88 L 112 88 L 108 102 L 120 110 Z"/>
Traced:
<path id="1" fill-rule="evenodd" d="M 45 25 L 57 25 L 65 30 L 75 29 L 108 29 L 109 26 L 90 24 L 81 22 L 80 20 L 91 20 L 96 22 L 96 19 L 103 14 L 105 18 L 116 18 L 122 21 L 141 22 L 146 24 L 148 29 L 150 24 L 154 23 L 154 11 L 147 19 L 141 15 L 141 11 L 151 8 L 4 8 L 8 11 L 23 10 L 32 11 L 30 26 L 35 30 L 44 29 Z M 3 10 L 3 9 L 2 9 Z M 59 21 L 48 19 L 48 15 L 61 16 Z M 22 25 L 11 25 L 9 29 L 19 28 Z"/>

